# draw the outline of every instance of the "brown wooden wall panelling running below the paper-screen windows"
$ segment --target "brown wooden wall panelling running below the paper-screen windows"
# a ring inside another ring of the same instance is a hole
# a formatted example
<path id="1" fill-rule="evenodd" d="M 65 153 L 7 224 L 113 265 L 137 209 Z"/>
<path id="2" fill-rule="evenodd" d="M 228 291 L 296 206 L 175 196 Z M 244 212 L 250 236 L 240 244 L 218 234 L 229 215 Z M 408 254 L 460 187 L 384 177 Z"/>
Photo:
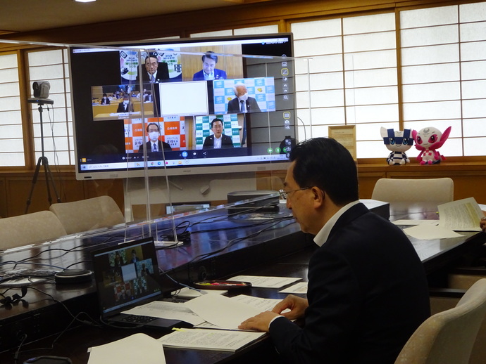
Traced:
<path id="1" fill-rule="evenodd" d="M 479 167 L 479 168 L 478 168 Z M 434 167 L 432 167 L 434 168 Z M 369 199 L 376 181 L 380 178 L 440 178 L 450 177 L 454 180 L 454 200 L 474 197 L 480 204 L 486 204 L 486 195 L 482 186 L 486 186 L 486 166 L 442 166 L 431 170 L 430 167 L 403 168 L 397 166 L 359 166 L 359 197 Z M 285 180 L 285 171 L 257 172 L 257 188 L 261 190 L 279 190 Z M 123 179 L 98 181 L 77 181 L 74 172 L 64 173 L 62 181 L 54 175 L 56 188 L 62 202 L 82 200 L 84 198 L 109 195 L 116 200 L 124 211 Z M 32 187 L 32 174 L 1 176 L 0 178 L 0 216 L 17 216 L 24 214 L 27 197 Z M 56 196 L 51 193 L 53 202 Z M 218 204 L 223 202 L 218 201 Z M 49 209 L 44 176 L 39 176 L 35 184 L 29 212 Z"/>

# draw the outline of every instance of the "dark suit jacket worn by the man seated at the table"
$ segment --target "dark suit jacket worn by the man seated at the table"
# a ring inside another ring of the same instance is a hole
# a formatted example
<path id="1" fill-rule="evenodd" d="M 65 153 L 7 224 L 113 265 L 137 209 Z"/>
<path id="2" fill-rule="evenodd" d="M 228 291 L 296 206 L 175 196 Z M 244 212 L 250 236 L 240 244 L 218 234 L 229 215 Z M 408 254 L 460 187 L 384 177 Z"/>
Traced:
<path id="1" fill-rule="evenodd" d="M 270 336 L 289 363 L 393 364 L 430 316 L 423 266 L 406 235 L 363 204 L 347 210 L 309 261 L 305 327 Z"/>

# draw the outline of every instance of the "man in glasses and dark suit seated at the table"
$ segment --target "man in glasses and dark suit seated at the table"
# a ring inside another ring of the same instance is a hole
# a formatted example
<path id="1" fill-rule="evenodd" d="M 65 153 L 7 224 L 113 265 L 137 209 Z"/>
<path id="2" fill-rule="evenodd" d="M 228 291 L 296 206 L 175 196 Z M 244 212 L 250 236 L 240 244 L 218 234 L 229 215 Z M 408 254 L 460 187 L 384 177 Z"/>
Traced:
<path id="1" fill-rule="evenodd" d="M 393 364 L 430 316 L 415 249 L 397 226 L 359 202 L 356 164 L 337 141 L 299 143 L 290 161 L 281 194 L 318 245 L 307 297 L 289 295 L 239 328 L 269 332 L 289 363 Z M 296 318 L 304 318 L 304 327 L 289 320 Z"/>

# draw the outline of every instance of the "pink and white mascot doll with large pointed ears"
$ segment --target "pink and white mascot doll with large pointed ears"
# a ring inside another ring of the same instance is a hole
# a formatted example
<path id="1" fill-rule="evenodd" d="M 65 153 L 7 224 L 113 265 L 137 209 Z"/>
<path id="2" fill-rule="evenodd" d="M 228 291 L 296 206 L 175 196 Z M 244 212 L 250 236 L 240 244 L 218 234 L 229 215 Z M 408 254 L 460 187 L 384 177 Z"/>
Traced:
<path id="1" fill-rule="evenodd" d="M 417 160 L 420 164 L 437 164 L 445 157 L 437 151 L 444 145 L 449 134 L 451 133 L 451 126 L 441 133 L 439 129 L 428 127 L 420 129 L 420 131 L 413 130 L 412 136 L 415 141 L 415 148 L 420 150 Z"/>

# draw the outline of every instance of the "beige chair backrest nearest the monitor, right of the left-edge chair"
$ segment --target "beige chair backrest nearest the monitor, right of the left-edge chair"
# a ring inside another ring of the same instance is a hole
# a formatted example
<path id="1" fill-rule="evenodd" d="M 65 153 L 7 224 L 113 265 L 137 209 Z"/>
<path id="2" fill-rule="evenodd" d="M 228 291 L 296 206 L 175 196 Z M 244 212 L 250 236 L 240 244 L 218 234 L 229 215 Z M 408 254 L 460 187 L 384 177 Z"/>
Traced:
<path id="1" fill-rule="evenodd" d="M 56 214 L 68 234 L 125 223 L 118 204 L 110 196 L 51 204 L 49 209 Z"/>

